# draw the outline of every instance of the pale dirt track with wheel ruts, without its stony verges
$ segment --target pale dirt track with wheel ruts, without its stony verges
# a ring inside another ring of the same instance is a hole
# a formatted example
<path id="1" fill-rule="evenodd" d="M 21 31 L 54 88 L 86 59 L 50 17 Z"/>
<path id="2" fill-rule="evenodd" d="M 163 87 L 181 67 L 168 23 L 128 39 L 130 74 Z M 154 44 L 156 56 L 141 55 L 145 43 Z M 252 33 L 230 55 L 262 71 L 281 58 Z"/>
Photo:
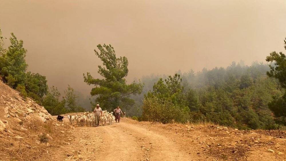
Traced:
<path id="1" fill-rule="evenodd" d="M 194 160 L 159 132 L 128 122 L 78 127 L 54 160 Z"/>

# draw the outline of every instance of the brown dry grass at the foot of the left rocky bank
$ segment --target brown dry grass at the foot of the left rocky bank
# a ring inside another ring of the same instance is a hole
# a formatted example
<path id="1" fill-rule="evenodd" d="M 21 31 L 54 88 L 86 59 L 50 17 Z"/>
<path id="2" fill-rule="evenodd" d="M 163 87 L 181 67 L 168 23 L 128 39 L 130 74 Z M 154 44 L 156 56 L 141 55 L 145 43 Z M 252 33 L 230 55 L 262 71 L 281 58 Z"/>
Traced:
<path id="1" fill-rule="evenodd" d="M 56 127 L 53 123 L 54 121 L 46 123 L 33 121 L 25 125 L 28 132 L 20 132 L 15 126 L 11 128 L 14 135 L 7 136 L 7 133 L 0 133 L 0 160 L 45 160 L 49 158 L 53 151 L 65 144 L 67 134 L 62 134 L 60 131 L 66 131 L 69 128 L 69 126 Z M 46 134 L 49 134 L 53 140 L 48 140 Z M 16 139 L 15 135 L 23 139 Z M 36 140 L 41 143 L 38 144 Z M 50 147 L 46 146 L 47 142 L 51 145 Z"/>

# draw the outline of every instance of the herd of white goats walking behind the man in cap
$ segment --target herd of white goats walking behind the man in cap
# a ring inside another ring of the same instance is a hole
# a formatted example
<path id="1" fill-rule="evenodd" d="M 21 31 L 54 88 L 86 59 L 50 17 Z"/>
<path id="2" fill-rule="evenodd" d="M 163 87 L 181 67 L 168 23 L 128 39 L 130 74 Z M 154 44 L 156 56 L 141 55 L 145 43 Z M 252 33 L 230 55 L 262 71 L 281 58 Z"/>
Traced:
<path id="1" fill-rule="evenodd" d="M 60 116 L 63 118 L 63 116 Z M 69 119 L 69 124 L 76 123 L 78 126 L 96 126 L 96 120 L 93 113 L 84 112 L 83 114 L 76 114 L 76 115 L 67 115 Z M 59 116 L 57 118 L 59 120 Z M 62 119 L 61 119 L 62 120 Z M 106 126 L 107 124 L 111 125 L 114 124 L 115 117 L 113 116 L 112 112 L 107 112 L 106 110 L 102 111 L 102 116 L 100 117 L 101 126 Z"/>

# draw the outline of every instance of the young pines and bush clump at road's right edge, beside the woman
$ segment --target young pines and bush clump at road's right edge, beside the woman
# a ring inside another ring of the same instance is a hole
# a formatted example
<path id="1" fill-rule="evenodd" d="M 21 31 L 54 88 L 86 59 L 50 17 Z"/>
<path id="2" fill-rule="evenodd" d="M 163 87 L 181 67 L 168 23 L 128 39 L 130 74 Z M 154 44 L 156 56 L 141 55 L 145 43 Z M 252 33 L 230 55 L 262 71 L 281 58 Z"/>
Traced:
<path id="1" fill-rule="evenodd" d="M 165 81 L 162 78 L 153 85 L 153 91 L 144 96 L 142 119 L 169 123 L 186 122 L 190 109 L 186 106 L 180 75 L 169 76 Z"/>

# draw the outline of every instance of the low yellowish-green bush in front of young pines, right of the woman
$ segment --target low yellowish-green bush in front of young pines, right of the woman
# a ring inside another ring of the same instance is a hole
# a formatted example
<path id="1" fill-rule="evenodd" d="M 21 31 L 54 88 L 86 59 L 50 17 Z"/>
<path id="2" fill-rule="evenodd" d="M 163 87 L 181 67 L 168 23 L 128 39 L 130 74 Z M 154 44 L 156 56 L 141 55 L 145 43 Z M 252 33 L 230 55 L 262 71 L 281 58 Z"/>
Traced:
<path id="1" fill-rule="evenodd" d="M 189 108 L 175 106 L 171 100 L 164 100 L 156 96 L 145 97 L 143 100 L 142 120 L 158 121 L 162 123 L 186 123 L 189 119 Z"/>

